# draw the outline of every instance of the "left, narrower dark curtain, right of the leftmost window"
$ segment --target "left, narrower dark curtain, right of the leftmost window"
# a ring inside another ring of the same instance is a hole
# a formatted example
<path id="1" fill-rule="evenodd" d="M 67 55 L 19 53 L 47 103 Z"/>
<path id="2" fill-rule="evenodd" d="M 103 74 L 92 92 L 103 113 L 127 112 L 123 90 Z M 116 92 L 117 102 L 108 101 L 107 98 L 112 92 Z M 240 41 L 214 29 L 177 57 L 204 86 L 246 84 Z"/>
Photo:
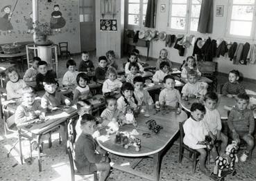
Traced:
<path id="1" fill-rule="evenodd" d="M 157 0 L 148 0 L 148 6 L 146 8 L 145 27 L 155 28 L 156 8 Z"/>

